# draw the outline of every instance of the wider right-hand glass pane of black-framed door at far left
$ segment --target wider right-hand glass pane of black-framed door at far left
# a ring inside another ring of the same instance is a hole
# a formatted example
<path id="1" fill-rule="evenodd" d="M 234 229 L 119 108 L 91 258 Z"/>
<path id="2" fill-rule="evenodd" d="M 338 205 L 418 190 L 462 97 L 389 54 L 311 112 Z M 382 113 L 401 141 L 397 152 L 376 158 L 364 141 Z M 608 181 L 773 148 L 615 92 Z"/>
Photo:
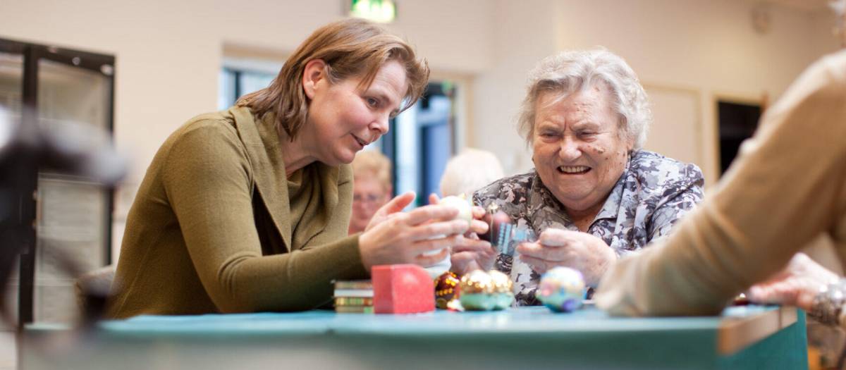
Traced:
<path id="1" fill-rule="evenodd" d="M 56 140 L 94 146 L 112 130 L 113 57 L 35 48 L 36 117 Z M 93 128 L 93 129 L 92 129 Z M 77 318 L 76 276 L 111 263 L 112 191 L 67 171 L 38 171 L 33 320 Z M 62 258 L 69 258 L 64 261 Z"/>

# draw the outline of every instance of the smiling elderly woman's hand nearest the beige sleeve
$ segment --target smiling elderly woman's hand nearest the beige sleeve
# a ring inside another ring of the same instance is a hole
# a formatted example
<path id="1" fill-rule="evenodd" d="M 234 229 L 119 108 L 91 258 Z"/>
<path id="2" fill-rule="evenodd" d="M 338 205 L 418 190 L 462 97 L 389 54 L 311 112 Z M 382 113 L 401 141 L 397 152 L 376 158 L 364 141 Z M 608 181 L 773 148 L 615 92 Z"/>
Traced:
<path id="1" fill-rule="evenodd" d="M 556 266 L 578 269 L 585 284 L 596 286 L 605 271 L 617 261 L 617 253 L 602 239 L 580 231 L 547 229 L 537 242 L 517 246 L 520 259 L 539 274 Z"/>

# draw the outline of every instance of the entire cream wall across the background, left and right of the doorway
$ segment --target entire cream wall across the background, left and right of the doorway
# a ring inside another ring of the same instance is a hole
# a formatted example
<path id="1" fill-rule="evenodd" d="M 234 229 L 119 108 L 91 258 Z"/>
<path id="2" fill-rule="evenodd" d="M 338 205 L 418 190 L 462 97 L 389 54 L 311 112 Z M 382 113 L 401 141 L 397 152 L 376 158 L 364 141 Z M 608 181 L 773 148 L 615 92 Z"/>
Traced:
<path id="1" fill-rule="evenodd" d="M 117 56 L 115 135 L 133 158 L 119 218 L 168 134 L 216 108 L 224 44 L 290 52 L 311 30 L 340 19 L 341 3 L 3 0 L 0 37 Z M 753 6 L 737 0 L 404 0 L 390 27 L 428 58 L 433 74 L 469 81 L 464 96 L 470 105 L 460 115 L 469 118 L 463 144 L 494 151 L 509 174 L 531 167 L 514 128 L 525 74 L 558 50 L 603 45 L 625 57 L 645 84 L 698 96 L 700 117 L 679 122 L 701 125 L 696 162 L 711 183 L 717 174 L 714 96 L 759 99 L 766 91 L 775 98 L 812 60 L 836 50 L 826 10 L 772 6 L 771 30 L 760 35 L 750 23 Z M 673 133 L 663 131 L 651 133 L 653 144 L 673 144 Z"/>

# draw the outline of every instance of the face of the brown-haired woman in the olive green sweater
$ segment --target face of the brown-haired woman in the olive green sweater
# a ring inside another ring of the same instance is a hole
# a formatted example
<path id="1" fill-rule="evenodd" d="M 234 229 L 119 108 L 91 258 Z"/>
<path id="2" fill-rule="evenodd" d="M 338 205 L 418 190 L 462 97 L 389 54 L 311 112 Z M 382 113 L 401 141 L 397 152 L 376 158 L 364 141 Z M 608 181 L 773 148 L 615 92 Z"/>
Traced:
<path id="1" fill-rule="evenodd" d="M 385 63 L 365 89 L 359 87 L 360 77 L 332 84 L 325 75 L 309 73 L 306 67 L 303 84 L 310 102 L 304 129 L 313 147 L 305 150 L 330 166 L 352 162 L 356 152 L 387 133 L 388 119 L 407 90 L 405 70 L 396 61 Z"/>

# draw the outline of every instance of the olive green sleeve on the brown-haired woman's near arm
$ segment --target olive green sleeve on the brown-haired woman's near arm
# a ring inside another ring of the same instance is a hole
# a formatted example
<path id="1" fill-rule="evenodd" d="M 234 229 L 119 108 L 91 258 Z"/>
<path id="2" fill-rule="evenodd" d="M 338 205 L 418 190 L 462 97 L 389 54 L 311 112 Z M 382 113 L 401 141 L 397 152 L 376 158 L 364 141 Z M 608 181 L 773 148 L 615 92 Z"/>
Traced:
<path id="1" fill-rule="evenodd" d="M 184 133 L 169 153 L 164 179 L 191 261 L 218 309 L 310 309 L 331 297 L 330 280 L 366 276 L 358 235 L 343 237 L 343 216 L 349 220 L 349 178 L 340 184 L 340 217 L 331 225 L 338 229 L 332 233 L 337 239 L 292 253 L 262 255 L 253 218 L 250 163 L 238 137 L 220 126 Z"/>

